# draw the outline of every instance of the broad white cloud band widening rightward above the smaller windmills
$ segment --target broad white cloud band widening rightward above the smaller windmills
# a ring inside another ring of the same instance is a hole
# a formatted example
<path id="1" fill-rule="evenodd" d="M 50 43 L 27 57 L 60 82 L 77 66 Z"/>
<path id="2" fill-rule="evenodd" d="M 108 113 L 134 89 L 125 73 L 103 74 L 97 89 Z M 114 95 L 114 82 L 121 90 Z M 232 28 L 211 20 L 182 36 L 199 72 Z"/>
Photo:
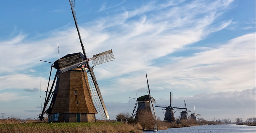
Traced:
<path id="1" fill-rule="evenodd" d="M 220 91 L 255 87 L 255 33 L 171 63 L 168 62 L 172 57 L 168 58 L 161 66 L 143 68 L 151 80 L 152 89 L 171 86 L 169 89 Z M 120 88 L 119 85 L 133 89 L 146 86 L 145 74 L 141 72 L 116 80 L 112 88 Z"/>

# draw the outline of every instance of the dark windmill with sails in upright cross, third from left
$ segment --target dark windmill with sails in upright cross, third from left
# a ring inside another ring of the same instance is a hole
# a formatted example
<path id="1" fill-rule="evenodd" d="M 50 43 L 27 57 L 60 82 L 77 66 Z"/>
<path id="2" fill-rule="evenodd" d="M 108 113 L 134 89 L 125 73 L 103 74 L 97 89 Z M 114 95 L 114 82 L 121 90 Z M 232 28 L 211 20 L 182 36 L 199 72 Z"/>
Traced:
<path id="1" fill-rule="evenodd" d="M 155 107 L 160 107 L 160 108 L 165 108 L 163 109 L 163 111 L 165 110 L 165 114 L 164 114 L 164 122 L 176 122 L 174 113 L 177 110 L 186 110 L 186 108 L 180 108 L 180 107 L 173 107 L 172 106 L 172 102 L 173 102 L 173 93 L 170 92 L 170 105 L 166 106 L 166 105 L 155 105 Z M 175 110 L 175 112 L 173 112 L 173 110 Z"/>

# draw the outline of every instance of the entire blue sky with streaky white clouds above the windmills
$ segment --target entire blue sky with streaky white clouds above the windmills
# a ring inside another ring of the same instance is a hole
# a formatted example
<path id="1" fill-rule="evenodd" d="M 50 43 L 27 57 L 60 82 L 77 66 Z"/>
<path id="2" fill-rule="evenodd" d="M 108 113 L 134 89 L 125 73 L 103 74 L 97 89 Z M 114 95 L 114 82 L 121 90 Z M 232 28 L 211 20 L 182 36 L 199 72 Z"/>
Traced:
<path id="1" fill-rule="evenodd" d="M 76 0 L 89 57 L 113 49 L 95 67 L 110 118 L 132 112 L 150 92 L 157 104 L 206 120 L 255 117 L 255 1 Z M 51 64 L 82 52 L 69 1 L 3 1 L 0 9 L 0 113 L 36 118 Z M 55 73 L 55 72 L 53 72 Z M 136 96 L 137 92 L 137 96 Z M 156 115 L 164 118 L 160 108 Z M 178 113 L 175 113 L 178 116 Z M 97 114 L 97 118 L 101 118 Z"/>

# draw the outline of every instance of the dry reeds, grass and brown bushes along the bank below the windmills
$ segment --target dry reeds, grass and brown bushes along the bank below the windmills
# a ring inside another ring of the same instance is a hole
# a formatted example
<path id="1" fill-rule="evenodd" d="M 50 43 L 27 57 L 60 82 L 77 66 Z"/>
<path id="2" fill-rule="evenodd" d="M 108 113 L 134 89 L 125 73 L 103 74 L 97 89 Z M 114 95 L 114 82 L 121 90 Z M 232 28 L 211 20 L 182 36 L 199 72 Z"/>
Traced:
<path id="1" fill-rule="evenodd" d="M 129 113 L 119 113 L 116 119 L 127 119 L 128 123 L 112 123 L 106 120 L 97 119 L 96 123 L 44 123 L 37 119 L 6 118 L 0 119 L 1 133 L 141 133 L 142 128 L 153 129 L 157 124 L 158 130 L 168 128 L 191 127 L 198 125 L 214 125 L 216 121 L 207 121 L 204 118 L 181 120 L 180 123 L 163 122 L 158 117 L 156 120 L 152 117 L 150 111 L 140 112 L 139 118 L 131 118 Z M 255 124 L 255 123 L 254 123 Z M 255 126 L 255 125 L 254 125 Z"/>

